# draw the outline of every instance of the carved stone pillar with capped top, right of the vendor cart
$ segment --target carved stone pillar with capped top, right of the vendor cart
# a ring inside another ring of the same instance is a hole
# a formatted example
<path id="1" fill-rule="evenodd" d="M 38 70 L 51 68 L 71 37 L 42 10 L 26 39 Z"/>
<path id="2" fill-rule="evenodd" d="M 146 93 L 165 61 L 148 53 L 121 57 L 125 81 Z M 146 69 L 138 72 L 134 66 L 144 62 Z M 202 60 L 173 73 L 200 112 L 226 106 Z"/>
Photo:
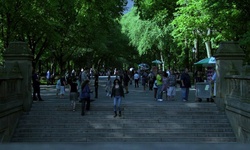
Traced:
<path id="1" fill-rule="evenodd" d="M 216 98 L 215 102 L 220 110 L 225 110 L 225 96 L 227 87 L 225 76 L 232 68 L 235 75 L 239 74 L 243 66 L 245 54 L 237 42 L 222 42 L 214 55 L 216 58 Z"/>

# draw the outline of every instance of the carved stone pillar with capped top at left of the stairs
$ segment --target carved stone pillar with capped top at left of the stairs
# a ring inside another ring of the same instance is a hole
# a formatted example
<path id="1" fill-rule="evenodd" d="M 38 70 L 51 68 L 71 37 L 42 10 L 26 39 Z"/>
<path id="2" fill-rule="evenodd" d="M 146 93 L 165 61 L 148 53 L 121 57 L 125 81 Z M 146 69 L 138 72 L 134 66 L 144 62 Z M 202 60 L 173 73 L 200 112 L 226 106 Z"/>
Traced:
<path id="1" fill-rule="evenodd" d="M 32 59 L 33 56 L 25 42 L 12 42 L 4 55 L 5 68 L 12 68 L 15 63 L 18 63 L 22 73 L 23 80 L 21 81 L 20 100 L 23 101 L 24 111 L 29 111 L 32 104 L 31 76 L 32 76 Z"/>

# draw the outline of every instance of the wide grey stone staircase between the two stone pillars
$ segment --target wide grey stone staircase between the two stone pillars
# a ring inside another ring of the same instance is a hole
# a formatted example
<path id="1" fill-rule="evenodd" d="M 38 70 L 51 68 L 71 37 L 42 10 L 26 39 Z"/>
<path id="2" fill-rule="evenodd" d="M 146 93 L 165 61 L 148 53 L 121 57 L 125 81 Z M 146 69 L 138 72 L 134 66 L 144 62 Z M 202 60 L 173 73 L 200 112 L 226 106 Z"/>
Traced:
<path id="1" fill-rule="evenodd" d="M 68 99 L 57 99 L 54 89 L 46 90 L 45 101 L 35 102 L 20 118 L 11 142 L 236 142 L 226 115 L 214 103 L 156 102 L 150 98 L 152 91 L 136 89 L 123 100 L 122 117 L 114 118 L 112 99 L 100 92 L 81 116 L 80 103 L 73 112 Z"/>

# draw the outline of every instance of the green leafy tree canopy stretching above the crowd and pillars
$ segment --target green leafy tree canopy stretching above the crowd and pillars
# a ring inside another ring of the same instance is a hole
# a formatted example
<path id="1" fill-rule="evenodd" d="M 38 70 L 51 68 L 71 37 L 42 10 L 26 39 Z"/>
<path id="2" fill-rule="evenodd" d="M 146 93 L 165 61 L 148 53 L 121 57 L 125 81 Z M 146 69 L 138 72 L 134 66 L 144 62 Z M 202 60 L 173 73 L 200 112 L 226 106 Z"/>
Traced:
<path id="1" fill-rule="evenodd" d="M 249 58 L 248 0 L 0 1 L 0 62 L 12 41 L 27 42 L 33 67 L 65 72 L 135 67 L 160 59 L 191 67 L 222 41 L 239 41 Z M 195 50 L 195 51 L 194 51 Z M 42 70 L 43 70 L 42 69 Z"/>

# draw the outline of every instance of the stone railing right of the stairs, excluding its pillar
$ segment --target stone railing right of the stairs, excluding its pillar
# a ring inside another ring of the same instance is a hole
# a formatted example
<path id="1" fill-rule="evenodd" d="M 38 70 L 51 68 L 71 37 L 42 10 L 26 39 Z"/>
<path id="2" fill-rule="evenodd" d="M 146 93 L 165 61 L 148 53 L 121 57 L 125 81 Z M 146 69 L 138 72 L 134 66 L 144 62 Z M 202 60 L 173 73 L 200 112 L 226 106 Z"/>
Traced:
<path id="1" fill-rule="evenodd" d="M 241 71 L 241 74 L 242 75 L 225 76 L 227 84 L 225 111 L 238 141 L 242 143 L 249 143 L 250 76 L 246 70 Z"/>

